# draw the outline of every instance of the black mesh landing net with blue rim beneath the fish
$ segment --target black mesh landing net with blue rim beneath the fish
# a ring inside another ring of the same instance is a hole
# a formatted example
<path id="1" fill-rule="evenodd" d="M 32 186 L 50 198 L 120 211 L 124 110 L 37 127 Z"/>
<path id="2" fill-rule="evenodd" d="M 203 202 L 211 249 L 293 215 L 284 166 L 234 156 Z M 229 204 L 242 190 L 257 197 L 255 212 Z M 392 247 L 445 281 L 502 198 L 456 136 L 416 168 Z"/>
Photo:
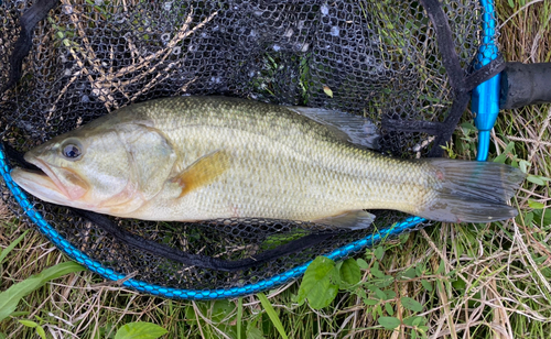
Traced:
<path id="1" fill-rule="evenodd" d="M 4 1 L 0 135 L 24 152 L 132 102 L 226 95 L 363 114 L 379 128 L 381 152 L 437 156 L 469 91 L 500 70 L 483 15 L 493 22 L 468 0 Z M 94 216 L 24 195 L 7 154 L 2 199 L 18 216 L 88 269 L 155 295 L 262 291 L 300 276 L 316 255 L 341 259 L 424 225 L 380 210 L 358 231 Z"/>

